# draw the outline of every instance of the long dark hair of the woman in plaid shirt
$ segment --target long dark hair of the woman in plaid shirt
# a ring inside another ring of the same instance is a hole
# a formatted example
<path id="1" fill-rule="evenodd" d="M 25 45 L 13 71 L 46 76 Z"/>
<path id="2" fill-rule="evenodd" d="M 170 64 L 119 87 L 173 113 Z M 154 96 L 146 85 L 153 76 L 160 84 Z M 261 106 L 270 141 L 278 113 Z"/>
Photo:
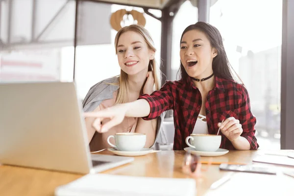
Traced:
<path id="1" fill-rule="evenodd" d="M 181 36 L 181 41 L 182 41 L 183 35 L 190 30 L 199 30 L 203 32 L 208 38 L 211 47 L 217 49 L 218 55 L 214 57 L 214 59 L 212 60 L 213 73 L 218 77 L 233 80 L 238 83 L 243 83 L 239 75 L 234 71 L 234 69 L 232 68 L 232 66 L 230 65 L 228 61 L 227 55 L 223 47 L 220 31 L 216 27 L 208 23 L 197 22 L 194 25 L 189 25 L 183 31 Z M 187 79 L 187 77 L 190 77 L 190 76 L 186 72 L 182 62 L 180 63 L 181 63 L 181 66 L 180 66 L 179 72 L 181 74 L 181 78 Z"/>

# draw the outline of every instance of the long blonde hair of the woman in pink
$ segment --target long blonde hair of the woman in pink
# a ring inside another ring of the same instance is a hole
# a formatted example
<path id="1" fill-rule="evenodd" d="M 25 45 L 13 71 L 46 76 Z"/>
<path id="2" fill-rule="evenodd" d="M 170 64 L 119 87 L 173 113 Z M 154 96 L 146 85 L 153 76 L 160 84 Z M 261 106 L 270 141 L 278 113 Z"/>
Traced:
<path id="1" fill-rule="evenodd" d="M 148 48 L 150 50 L 156 52 L 154 42 L 150 36 L 150 33 L 147 31 L 147 29 L 145 29 L 142 25 L 129 25 L 129 26 L 125 26 L 125 27 L 121 28 L 121 30 L 119 30 L 115 36 L 115 41 L 114 41 L 115 44 L 114 45 L 115 45 L 115 53 L 116 54 L 117 54 L 117 46 L 118 46 L 120 36 L 123 33 L 128 32 L 128 31 L 133 31 L 133 32 L 140 34 L 144 38 L 145 42 L 147 43 Z M 149 61 L 148 71 L 153 71 L 155 90 L 159 90 L 161 87 L 161 75 L 160 75 L 160 71 L 158 70 L 158 68 L 156 66 L 155 58 Z M 127 78 L 128 78 L 127 73 L 125 73 L 125 72 L 123 72 L 123 70 L 121 70 L 121 74 L 119 76 L 119 83 L 117 83 L 117 85 L 120 85 L 120 88 L 118 90 L 118 95 L 117 95 L 115 104 L 125 103 L 128 101 L 128 100 L 126 100 L 127 92 L 128 92 Z M 143 88 L 144 88 L 144 85 L 142 86 L 140 94 L 143 93 Z"/>

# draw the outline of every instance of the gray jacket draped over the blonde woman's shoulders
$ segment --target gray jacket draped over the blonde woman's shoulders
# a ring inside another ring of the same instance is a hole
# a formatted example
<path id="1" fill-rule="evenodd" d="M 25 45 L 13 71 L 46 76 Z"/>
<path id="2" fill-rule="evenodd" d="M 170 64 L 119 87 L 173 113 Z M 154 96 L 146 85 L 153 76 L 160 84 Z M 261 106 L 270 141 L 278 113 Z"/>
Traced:
<path id="1" fill-rule="evenodd" d="M 92 112 L 103 100 L 113 98 L 113 92 L 119 89 L 119 85 L 112 85 L 109 83 L 117 83 L 118 79 L 118 77 L 108 78 L 92 86 L 82 103 L 84 112 Z M 166 112 L 162 113 L 157 118 L 157 131 L 154 144 L 161 132 L 165 114 Z"/>

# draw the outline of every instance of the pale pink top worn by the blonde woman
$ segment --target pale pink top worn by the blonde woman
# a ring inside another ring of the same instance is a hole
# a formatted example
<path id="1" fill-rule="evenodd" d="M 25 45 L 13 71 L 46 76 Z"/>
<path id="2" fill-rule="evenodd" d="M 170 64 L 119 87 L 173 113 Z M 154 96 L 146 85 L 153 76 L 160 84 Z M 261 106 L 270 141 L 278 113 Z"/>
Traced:
<path id="1" fill-rule="evenodd" d="M 105 109 L 105 108 L 113 106 L 115 103 L 116 97 L 117 97 L 117 93 L 118 93 L 118 91 L 114 91 L 113 98 L 103 100 L 94 111 Z M 102 121 L 102 124 L 106 123 L 108 121 L 109 120 L 105 119 Z M 109 129 L 105 133 L 98 133 L 96 131 L 91 142 L 90 142 L 90 150 L 91 151 L 98 151 L 98 150 L 101 150 L 101 149 L 104 149 L 107 147 L 111 147 L 107 143 L 108 136 L 114 135 L 115 133 L 135 132 L 137 123 L 138 123 L 138 118 L 125 117 L 122 123 L 120 123 L 117 126 L 112 127 L 111 129 Z M 112 144 L 115 144 L 113 138 L 110 139 L 110 142 Z"/>

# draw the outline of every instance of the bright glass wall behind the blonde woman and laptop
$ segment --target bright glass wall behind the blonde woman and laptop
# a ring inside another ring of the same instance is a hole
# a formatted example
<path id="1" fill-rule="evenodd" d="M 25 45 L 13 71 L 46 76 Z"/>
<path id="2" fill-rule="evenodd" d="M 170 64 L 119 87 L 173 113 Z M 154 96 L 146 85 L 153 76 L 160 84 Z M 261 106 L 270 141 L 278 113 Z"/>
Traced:
<path id="1" fill-rule="evenodd" d="M 80 1 L 74 74 L 75 1 L 0 3 L 0 82 L 66 82 L 73 81 L 74 76 L 81 100 L 91 86 L 120 73 L 114 48 L 117 31 L 110 25 L 111 14 L 119 9 L 144 12 L 139 7 Z M 159 10 L 149 12 L 161 17 Z M 144 16 L 160 63 L 161 22 Z M 132 17 L 124 17 L 123 21 L 122 26 L 134 22 Z"/>

